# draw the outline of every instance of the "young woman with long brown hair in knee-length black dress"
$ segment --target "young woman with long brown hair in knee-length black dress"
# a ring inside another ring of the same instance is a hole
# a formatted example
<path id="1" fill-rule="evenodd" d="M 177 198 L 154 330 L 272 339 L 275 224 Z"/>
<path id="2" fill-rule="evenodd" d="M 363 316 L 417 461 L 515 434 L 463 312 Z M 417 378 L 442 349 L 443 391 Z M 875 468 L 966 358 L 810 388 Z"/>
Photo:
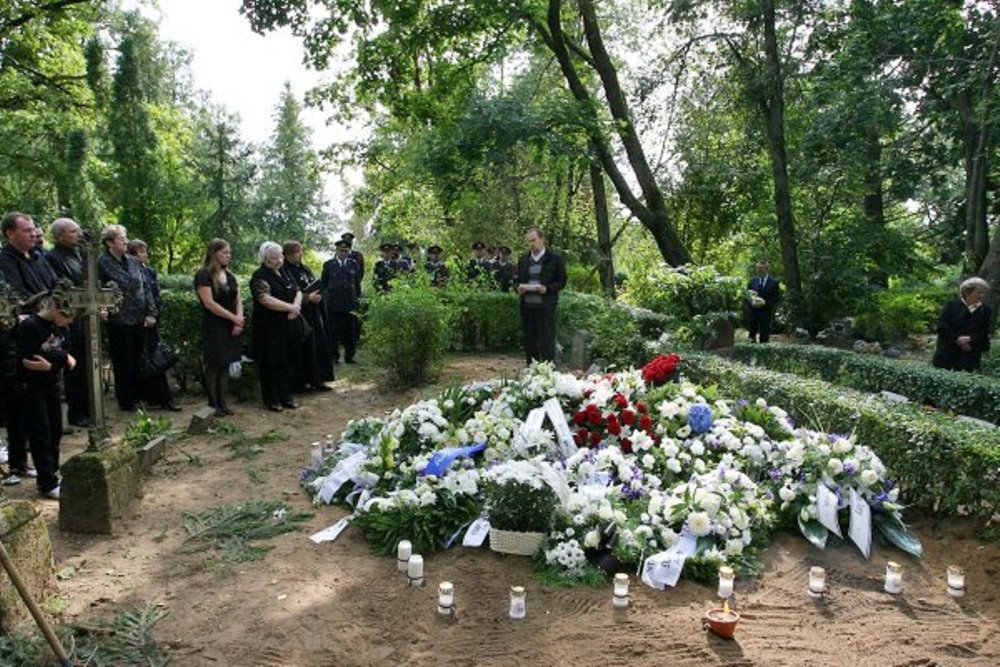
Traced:
<path id="1" fill-rule="evenodd" d="M 229 365 L 243 355 L 240 336 L 246 322 L 236 276 L 229 272 L 229 243 L 212 239 L 205 261 L 194 274 L 194 289 L 201 301 L 201 344 L 205 361 L 208 405 L 217 415 L 231 415 L 226 403 Z"/>

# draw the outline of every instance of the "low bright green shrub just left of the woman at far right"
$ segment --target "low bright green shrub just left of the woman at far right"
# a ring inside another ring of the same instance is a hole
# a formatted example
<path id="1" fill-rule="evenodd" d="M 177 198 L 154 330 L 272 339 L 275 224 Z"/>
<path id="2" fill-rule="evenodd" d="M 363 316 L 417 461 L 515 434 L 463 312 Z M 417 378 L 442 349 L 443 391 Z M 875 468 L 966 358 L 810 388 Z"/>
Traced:
<path id="1" fill-rule="evenodd" d="M 886 290 L 872 295 L 857 314 L 854 331 L 865 340 L 892 341 L 934 330 L 941 307 L 953 290 Z"/>

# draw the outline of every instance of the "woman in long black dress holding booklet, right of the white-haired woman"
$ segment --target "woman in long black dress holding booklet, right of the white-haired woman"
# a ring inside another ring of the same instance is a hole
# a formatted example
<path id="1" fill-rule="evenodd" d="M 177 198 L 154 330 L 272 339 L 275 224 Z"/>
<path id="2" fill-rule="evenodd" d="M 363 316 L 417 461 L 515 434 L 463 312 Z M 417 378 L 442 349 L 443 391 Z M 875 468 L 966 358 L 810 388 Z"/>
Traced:
<path id="1" fill-rule="evenodd" d="M 330 391 L 324 383 L 333 379 L 333 356 L 319 282 L 312 269 L 302 263 L 301 243 L 286 241 L 281 250 L 285 271 L 302 291 L 302 317 L 309 324 L 302 344 L 292 346 L 292 386 L 295 391 Z"/>

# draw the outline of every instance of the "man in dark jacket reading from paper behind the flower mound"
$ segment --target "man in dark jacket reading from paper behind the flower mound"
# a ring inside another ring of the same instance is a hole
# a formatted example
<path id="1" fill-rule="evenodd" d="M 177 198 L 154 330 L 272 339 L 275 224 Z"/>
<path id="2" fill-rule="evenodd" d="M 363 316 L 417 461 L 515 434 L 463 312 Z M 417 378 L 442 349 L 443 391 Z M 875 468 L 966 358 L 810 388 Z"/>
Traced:
<path id="1" fill-rule="evenodd" d="M 566 264 L 545 247 L 545 235 L 537 227 L 529 227 L 524 240 L 528 252 L 517 263 L 524 356 L 529 364 L 555 361 L 556 304 L 566 286 Z"/>

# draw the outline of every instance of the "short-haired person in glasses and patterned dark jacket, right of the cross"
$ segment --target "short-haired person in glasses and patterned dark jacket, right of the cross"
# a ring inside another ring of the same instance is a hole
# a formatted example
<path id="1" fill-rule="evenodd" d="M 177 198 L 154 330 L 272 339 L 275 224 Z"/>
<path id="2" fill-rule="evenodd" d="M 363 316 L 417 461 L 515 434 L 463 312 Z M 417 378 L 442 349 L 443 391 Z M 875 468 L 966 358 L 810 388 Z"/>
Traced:
<path id="1" fill-rule="evenodd" d="M 124 300 L 108 316 L 108 346 L 115 376 L 118 407 L 134 412 L 139 399 L 139 363 L 145 349 L 146 329 L 156 325 L 158 313 L 142 264 L 126 253 L 128 237 L 121 225 L 108 225 L 101 234 L 106 253 L 97 260 L 101 282 L 113 282 Z"/>

